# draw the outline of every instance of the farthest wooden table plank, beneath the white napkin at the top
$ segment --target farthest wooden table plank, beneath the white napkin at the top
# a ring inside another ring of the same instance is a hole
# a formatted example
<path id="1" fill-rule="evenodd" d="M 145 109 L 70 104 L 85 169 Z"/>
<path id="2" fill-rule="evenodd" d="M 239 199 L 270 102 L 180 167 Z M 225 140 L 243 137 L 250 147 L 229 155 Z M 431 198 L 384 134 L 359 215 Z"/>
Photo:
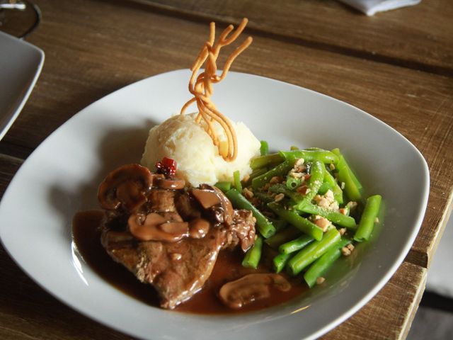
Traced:
<path id="1" fill-rule="evenodd" d="M 239 23 L 276 38 L 453 76 L 453 2 L 422 1 L 368 17 L 338 1 L 138 0 L 198 20 Z"/>

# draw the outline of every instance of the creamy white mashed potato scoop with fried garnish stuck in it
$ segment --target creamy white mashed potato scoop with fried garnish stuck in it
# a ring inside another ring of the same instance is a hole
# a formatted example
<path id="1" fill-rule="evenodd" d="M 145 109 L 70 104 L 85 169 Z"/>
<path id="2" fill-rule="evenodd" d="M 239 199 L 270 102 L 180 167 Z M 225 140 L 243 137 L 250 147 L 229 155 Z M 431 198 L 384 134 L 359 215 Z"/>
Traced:
<path id="1" fill-rule="evenodd" d="M 239 170 L 241 178 L 251 174 L 250 161 L 260 155 L 260 142 L 243 123 L 233 123 L 238 142 L 236 159 L 227 162 L 219 154 L 210 135 L 200 123 L 196 113 L 175 115 L 149 131 L 142 156 L 142 165 L 154 169 L 154 164 L 164 157 L 178 164 L 176 175 L 192 186 L 201 183 L 214 185 L 218 181 L 233 181 L 233 172 Z M 226 137 L 218 123 L 214 123 L 220 145 Z"/>

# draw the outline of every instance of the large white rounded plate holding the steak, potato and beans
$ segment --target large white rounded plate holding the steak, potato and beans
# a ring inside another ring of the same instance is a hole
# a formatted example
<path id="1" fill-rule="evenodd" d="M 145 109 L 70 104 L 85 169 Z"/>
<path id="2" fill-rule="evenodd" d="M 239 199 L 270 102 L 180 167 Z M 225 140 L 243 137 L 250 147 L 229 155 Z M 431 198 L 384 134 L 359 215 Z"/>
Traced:
<path id="1" fill-rule="evenodd" d="M 97 207 L 115 166 L 139 162 L 149 128 L 190 98 L 190 73 L 160 74 L 120 89 L 74 115 L 30 155 L 0 205 L 0 235 L 19 266 L 67 305 L 149 339 L 314 338 L 350 317 L 386 283 L 415 239 L 428 200 L 425 160 L 388 125 L 298 86 L 230 72 L 214 102 L 275 149 L 340 147 L 386 217 L 379 238 L 343 261 L 326 283 L 279 307 L 233 316 L 169 312 L 121 293 L 74 252 L 71 218 Z"/>

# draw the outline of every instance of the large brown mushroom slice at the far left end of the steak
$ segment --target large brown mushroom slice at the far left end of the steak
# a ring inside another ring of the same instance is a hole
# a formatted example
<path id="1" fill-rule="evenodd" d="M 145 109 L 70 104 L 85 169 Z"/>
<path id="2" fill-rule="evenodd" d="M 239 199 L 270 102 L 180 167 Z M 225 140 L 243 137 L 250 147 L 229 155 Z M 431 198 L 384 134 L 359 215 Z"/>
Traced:
<path id="1" fill-rule="evenodd" d="M 127 164 L 110 172 L 98 189 L 101 207 L 115 210 L 120 207 L 134 212 L 147 200 L 153 175 L 139 164 Z"/>

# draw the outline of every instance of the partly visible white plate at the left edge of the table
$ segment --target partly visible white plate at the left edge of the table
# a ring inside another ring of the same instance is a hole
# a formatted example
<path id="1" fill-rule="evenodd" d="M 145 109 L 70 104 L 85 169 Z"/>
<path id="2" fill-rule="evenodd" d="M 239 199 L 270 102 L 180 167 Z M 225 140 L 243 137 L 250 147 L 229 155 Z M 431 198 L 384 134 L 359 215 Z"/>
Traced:
<path id="1" fill-rule="evenodd" d="M 0 32 L 0 140 L 13 125 L 44 63 L 44 52 Z"/>

